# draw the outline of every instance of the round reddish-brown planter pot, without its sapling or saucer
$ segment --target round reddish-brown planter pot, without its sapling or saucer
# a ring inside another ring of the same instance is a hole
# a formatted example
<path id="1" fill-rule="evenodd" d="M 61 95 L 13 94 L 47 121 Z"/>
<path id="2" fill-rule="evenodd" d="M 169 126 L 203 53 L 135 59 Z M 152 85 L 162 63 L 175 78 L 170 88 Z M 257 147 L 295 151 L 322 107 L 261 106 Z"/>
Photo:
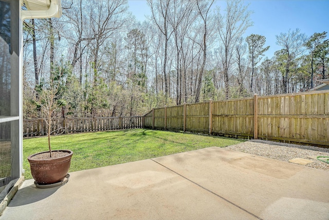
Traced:
<path id="1" fill-rule="evenodd" d="M 30 163 L 33 179 L 39 185 L 49 185 L 63 181 L 71 164 L 73 152 L 69 150 L 51 151 L 67 153 L 67 155 L 58 158 L 32 159 L 34 155 L 47 152 L 48 151 L 33 154 L 27 158 Z"/>

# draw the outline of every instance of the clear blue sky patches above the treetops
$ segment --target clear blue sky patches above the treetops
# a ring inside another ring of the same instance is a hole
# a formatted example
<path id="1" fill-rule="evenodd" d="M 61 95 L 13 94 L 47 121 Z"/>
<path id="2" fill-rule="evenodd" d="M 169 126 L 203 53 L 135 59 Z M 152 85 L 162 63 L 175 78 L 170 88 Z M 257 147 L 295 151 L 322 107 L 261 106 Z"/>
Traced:
<path id="1" fill-rule="evenodd" d="M 146 0 L 131 0 L 128 3 L 129 10 L 141 22 L 146 19 L 144 15 L 151 14 Z M 266 52 L 269 58 L 281 49 L 276 45 L 276 35 L 287 33 L 289 29 L 299 28 L 307 36 L 315 32 L 329 32 L 328 0 L 252 0 L 244 1 L 244 4 L 249 4 L 248 9 L 253 11 L 253 26 L 247 29 L 244 37 L 251 33 L 264 35 L 265 46 L 270 46 Z M 215 5 L 224 10 L 226 2 L 217 1 Z"/>

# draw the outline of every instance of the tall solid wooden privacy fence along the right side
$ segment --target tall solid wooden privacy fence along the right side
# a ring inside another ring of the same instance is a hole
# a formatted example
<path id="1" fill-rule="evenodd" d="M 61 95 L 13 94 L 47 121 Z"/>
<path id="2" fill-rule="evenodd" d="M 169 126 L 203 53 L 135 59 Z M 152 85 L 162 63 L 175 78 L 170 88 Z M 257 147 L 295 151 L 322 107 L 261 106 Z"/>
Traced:
<path id="1" fill-rule="evenodd" d="M 144 127 L 328 148 L 329 91 L 156 108 L 144 116 Z"/>

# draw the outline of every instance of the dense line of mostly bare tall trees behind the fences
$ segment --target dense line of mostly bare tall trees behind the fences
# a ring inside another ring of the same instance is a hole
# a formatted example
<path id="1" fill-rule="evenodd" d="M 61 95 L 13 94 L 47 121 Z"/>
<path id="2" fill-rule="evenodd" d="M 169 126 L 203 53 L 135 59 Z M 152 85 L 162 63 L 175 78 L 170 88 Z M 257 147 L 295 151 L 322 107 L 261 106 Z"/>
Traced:
<path id="1" fill-rule="evenodd" d="M 282 49 L 263 58 L 265 36 L 243 38 L 252 25 L 248 6 L 213 3 L 148 0 L 152 14 L 140 23 L 125 0 L 62 0 L 60 19 L 25 21 L 25 118 L 42 117 L 37 91 L 50 80 L 61 81 L 61 117 L 99 117 L 307 91 L 328 78 L 326 32 L 287 30 L 276 36 Z"/>

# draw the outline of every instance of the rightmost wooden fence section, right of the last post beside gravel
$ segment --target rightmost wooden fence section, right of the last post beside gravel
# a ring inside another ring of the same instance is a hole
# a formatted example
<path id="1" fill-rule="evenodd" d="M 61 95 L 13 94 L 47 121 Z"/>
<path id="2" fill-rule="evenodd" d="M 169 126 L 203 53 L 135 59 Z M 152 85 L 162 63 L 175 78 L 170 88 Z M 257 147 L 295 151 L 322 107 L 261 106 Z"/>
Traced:
<path id="1" fill-rule="evenodd" d="M 259 137 L 329 145 L 329 93 L 259 97 Z"/>

